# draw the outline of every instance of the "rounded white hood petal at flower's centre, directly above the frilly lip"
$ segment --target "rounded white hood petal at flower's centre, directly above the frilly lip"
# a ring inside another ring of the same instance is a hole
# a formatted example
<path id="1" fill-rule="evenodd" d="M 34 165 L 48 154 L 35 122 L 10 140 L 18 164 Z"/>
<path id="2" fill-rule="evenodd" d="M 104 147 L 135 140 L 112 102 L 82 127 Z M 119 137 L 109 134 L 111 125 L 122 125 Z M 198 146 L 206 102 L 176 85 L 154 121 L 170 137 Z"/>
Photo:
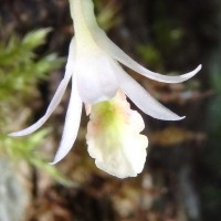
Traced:
<path id="1" fill-rule="evenodd" d="M 99 49 L 76 54 L 76 81 L 84 103 L 94 104 L 112 98 L 118 87 L 118 64 Z"/>

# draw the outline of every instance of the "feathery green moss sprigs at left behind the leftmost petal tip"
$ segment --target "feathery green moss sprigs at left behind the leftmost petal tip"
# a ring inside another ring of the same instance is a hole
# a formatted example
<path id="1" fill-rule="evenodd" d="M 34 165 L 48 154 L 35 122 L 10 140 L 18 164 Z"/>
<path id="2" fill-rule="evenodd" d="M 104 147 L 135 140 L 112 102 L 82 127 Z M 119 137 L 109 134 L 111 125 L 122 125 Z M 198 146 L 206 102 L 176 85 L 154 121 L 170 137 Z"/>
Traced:
<path id="1" fill-rule="evenodd" d="M 63 64 L 56 54 L 39 57 L 34 51 L 45 42 L 50 29 L 40 29 L 28 33 L 23 39 L 11 36 L 0 42 L 0 155 L 8 156 L 13 162 L 25 160 L 41 171 L 45 171 L 62 183 L 69 183 L 49 159 L 36 150 L 43 144 L 48 129 L 24 138 L 12 138 L 12 125 L 22 127 L 27 115 L 31 113 L 27 101 L 34 97 L 39 81 Z M 14 114 L 15 113 L 15 114 Z M 18 116 L 18 117 L 15 117 Z"/>

